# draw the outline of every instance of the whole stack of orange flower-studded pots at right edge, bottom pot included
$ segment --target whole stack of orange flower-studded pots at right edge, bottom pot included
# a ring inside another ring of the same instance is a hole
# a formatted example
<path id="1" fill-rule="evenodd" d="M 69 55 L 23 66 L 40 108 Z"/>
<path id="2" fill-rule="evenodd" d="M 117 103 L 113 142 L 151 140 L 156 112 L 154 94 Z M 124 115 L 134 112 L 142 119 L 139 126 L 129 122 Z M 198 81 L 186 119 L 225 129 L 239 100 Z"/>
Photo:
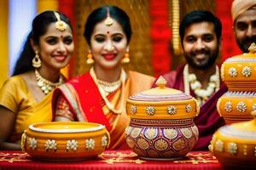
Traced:
<path id="1" fill-rule="evenodd" d="M 213 134 L 209 149 L 224 167 L 256 166 L 256 45 L 249 50 L 222 65 L 229 91 L 218 100 L 218 112 L 232 124 Z"/>

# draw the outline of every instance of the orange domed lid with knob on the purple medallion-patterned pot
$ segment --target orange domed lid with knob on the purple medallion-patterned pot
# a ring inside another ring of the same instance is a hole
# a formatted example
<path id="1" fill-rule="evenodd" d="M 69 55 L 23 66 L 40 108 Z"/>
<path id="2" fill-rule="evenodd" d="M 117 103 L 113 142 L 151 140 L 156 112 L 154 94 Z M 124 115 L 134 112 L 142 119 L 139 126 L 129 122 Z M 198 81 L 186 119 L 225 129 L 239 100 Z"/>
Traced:
<path id="1" fill-rule="evenodd" d="M 182 91 L 166 88 L 166 80 L 160 77 L 157 87 L 130 96 L 126 112 L 136 119 L 187 119 L 199 114 L 196 99 Z"/>

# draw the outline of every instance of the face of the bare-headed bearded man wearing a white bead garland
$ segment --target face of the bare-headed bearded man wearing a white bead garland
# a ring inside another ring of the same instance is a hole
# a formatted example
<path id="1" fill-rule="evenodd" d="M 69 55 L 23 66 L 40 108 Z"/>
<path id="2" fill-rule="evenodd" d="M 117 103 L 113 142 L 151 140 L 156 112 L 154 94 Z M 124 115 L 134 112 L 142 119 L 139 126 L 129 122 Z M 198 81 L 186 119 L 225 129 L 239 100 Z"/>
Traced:
<path id="1" fill-rule="evenodd" d="M 218 39 L 211 22 L 200 22 L 185 29 L 183 52 L 189 65 L 206 69 L 218 58 Z"/>

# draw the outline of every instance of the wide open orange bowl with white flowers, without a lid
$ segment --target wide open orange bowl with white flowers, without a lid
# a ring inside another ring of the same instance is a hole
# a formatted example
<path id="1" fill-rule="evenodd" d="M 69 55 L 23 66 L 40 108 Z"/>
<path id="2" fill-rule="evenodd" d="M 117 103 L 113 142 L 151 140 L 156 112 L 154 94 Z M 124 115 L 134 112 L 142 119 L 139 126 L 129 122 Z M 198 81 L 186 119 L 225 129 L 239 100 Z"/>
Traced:
<path id="1" fill-rule="evenodd" d="M 21 147 L 44 161 L 79 161 L 100 155 L 109 144 L 106 127 L 91 122 L 44 122 L 29 126 Z"/>

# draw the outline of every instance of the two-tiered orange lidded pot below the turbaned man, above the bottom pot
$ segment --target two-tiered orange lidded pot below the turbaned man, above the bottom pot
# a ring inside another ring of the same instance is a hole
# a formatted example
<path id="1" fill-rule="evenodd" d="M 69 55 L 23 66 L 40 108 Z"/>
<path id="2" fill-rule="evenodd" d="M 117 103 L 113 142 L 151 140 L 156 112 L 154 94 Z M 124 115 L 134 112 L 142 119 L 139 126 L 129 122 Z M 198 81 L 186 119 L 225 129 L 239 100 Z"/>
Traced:
<path id="1" fill-rule="evenodd" d="M 221 77 L 229 88 L 218 99 L 218 113 L 227 124 L 253 119 L 256 111 L 256 45 L 252 43 L 248 54 L 226 59 L 221 66 Z"/>

